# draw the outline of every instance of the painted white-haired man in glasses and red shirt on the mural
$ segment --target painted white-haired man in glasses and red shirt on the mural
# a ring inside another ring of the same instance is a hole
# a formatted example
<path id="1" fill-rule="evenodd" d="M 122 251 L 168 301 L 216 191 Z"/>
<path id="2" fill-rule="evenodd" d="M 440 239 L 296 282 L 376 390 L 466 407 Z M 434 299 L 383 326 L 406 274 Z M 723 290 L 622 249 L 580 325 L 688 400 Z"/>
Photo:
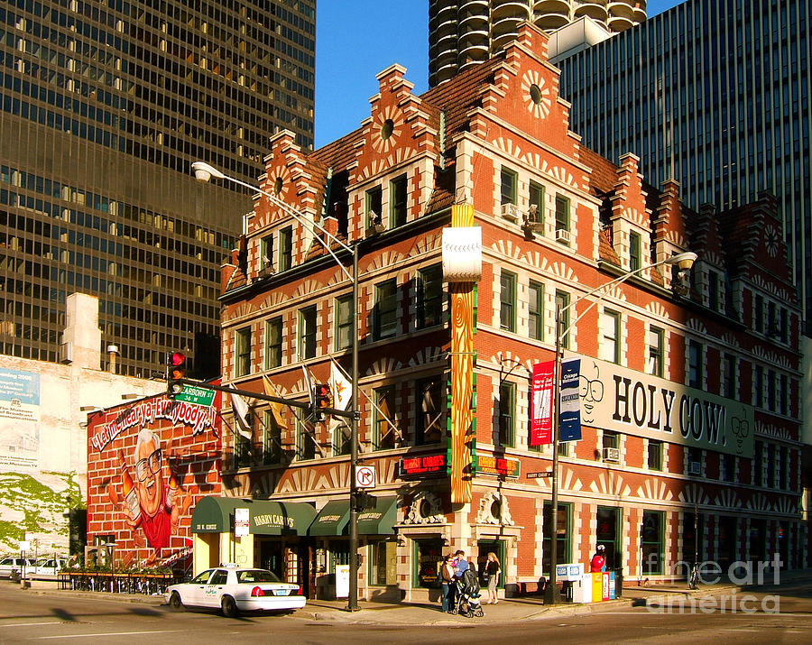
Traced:
<path id="1" fill-rule="evenodd" d="M 164 479 L 161 440 L 152 430 L 142 428 L 138 433 L 134 477 L 130 475 L 123 452 L 119 451 L 118 458 L 122 468 L 127 523 L 133 529 L 143 531 L 147 544 L 155 549 L 157 557 L 161 548 L 170 546 L 180 514 L 189 510 L 191 500 L 180 490 L 171 472 L 169 482 Z"/>

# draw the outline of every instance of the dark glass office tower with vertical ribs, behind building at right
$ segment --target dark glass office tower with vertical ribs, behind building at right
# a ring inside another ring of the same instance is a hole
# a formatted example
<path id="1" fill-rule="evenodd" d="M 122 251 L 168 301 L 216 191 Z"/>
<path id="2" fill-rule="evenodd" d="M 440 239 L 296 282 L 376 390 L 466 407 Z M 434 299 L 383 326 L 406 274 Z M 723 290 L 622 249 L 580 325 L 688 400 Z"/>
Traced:
<path id="1" fill-rule="evenodd" d="M 688 0 L 554 61 L 586 146 L 614 160 L 634 152 L 647 180 L 678 180 L 690 207 L 779 198 L 807 335 L 810 16 L 810 0 Z"/>

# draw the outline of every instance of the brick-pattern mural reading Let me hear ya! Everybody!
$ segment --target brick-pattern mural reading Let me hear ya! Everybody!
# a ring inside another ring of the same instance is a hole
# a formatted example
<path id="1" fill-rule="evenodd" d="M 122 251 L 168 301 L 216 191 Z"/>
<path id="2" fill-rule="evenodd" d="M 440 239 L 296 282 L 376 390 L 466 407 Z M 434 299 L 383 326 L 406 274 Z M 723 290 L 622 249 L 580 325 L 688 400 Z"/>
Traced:
<path id="1" fill-rule="evenodd" d="M 220 398 L 161 395 L 89 415 L 88 541 L 113 541 L 116 566 L 191 562 L 191 512 L 220 491 Z"/>

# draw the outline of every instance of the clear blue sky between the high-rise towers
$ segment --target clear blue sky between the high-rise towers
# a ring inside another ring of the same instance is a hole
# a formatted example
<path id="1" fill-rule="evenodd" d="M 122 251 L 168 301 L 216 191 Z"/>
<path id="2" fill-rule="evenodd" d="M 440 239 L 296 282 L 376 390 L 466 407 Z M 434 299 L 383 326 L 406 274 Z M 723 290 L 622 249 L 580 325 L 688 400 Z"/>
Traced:
<path id="1" fill-rule="evenodd" d="M 660 14 L 681 0 L 649 0 Z M 414 92 L 429 88 L 427 0 L 319 0 L 316 12 L 316 147 L 355 130 L 369 116 L 375 79 L 392 63 Z"/>

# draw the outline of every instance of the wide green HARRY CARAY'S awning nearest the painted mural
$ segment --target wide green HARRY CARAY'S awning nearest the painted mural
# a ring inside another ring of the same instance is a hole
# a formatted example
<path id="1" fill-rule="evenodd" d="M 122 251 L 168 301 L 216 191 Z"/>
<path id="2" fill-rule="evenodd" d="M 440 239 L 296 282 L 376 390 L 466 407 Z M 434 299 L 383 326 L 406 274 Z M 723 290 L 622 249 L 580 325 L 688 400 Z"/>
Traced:
<path id="1" fill-rule="evenodd" d="M 250 533 L 255 535 L 307 535 L 316 509 L 302 502 L 202 497 L 192 513 L 192 533 L 226 533 L 234 525 L 234 511 L 247 508 Z"/>

